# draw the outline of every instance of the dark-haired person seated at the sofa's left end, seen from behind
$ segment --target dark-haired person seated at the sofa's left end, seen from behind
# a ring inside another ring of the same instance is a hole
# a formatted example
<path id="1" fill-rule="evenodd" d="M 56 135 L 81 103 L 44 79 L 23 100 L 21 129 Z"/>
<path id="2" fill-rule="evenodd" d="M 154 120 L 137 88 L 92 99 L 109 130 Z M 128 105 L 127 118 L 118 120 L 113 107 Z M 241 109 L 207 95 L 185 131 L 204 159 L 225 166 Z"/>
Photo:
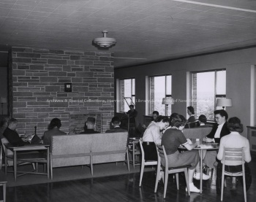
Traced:
<path id="1" fill-rule="evenodd" d="M 51 144 L 51 136 L 58 136 L 58 135 L 66 135 L 65 132 L 60 131 L 59 128 L 61 128 L 61 120 L 58 118 L 54 118 L 50 121 L 50 124 L 48 126 L 48 131 L 45 131 L 43 136 L 44 144 Z"/>

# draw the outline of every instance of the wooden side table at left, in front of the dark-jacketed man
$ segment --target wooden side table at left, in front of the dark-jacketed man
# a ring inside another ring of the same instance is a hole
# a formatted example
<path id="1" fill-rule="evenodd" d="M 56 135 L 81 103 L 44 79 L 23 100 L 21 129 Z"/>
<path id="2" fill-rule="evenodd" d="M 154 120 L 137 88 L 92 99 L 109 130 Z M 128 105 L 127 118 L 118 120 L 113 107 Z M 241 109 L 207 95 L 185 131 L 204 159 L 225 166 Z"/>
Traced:
<path id="1" fill-rule="evenodd" d="M 24 174 L 40 174 L 40 175 L 47 175 L 48 179 L 49 179 L 49 171 L 50 171 L 50 154 L 49 154 L 49 147 L 50 145 L 44 145 L 44 144 L 31 144 L 31 145 L 24 145 L 22 147 L 15 147 L 10 143 L 6 143 L 5 145 L 5 171 L 7 171 L 7 150 L 10 149 L 13 152 L 13 167 L 14 167 L 14 179 L 16 182 L 17 179 L 17 152 L 28 152 L 28 151 L 47 151 L 46 154 L 46 158 L 42 158 L 42 157 L 37 157 L 39 155 L 42 155 L 40 153 L 36 154 L 36 156 L 34 157 L 32 154 L 32 156 L 28 153 L 28 154 L 24 154 L 22 153 L 22 158 L 20 160 L 24 161 L 24 162 L 31 162 L 31 163 L 47 163 L 47 174 L 45 173 L 38 173 L 38 172 L 29 172 L 29 171 L 19 171 L 19 173 L 21 173 L 21 175 Z"/>

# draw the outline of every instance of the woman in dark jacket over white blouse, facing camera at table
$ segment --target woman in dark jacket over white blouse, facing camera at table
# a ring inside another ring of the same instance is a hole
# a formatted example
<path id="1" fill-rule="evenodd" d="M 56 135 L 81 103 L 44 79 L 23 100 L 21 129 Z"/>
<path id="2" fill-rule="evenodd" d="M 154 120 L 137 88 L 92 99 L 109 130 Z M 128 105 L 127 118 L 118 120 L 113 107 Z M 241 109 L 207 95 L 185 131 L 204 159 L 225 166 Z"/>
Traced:
<path id="1" fill-rule="evenodd" d="M 220 139 L 223 136 L 226 136 L 230 133 L 230 130 L 227 128 L 227 118 L 228 114 L 224 109 L 214 111 L 215 120 L 217 123 L 214 124 L 214 127 L 211 129 L 211 132 L 203 138 L 203 141 L 206 142 L 215 142 L 219 143 Z M 206 156 L 203 159 L 203 163 L 206 164 L 209 168 L 214 168 L 217 166 L 216 159 L 217 151 L 207 151 Z M 215 163 L 216 162 L 216 163 Z"/>

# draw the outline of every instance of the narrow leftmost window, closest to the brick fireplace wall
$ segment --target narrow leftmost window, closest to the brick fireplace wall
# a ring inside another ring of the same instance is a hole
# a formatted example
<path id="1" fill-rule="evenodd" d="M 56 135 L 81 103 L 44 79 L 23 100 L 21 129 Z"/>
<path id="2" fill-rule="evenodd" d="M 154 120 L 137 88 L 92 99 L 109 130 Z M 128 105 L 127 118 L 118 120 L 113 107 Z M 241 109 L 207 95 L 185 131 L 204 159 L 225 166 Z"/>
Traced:
<path id="1" fill-rule="evenodd" d="M 120 111 L 128 112 L 129 105 L 135 104 L 135 79 L 121 79 L 120 91 Z"/>

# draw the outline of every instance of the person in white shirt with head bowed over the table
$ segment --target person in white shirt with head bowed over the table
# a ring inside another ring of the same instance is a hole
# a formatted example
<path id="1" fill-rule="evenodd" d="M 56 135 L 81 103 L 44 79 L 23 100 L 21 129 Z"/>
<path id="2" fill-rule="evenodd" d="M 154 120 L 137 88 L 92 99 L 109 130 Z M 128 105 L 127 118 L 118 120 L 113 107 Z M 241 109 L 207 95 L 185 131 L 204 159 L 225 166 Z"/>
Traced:
<path id="1" fill-rule="evenodd" d="M 143 134 L 143 141 L 154 141 L 155 144 L 161 144 L 162 133 L 160 131 L 164 130 L 170 125 L 167 118 L 160 118 L 158 122 L 152 122 L 148 125 L 148 128 Z"/>

